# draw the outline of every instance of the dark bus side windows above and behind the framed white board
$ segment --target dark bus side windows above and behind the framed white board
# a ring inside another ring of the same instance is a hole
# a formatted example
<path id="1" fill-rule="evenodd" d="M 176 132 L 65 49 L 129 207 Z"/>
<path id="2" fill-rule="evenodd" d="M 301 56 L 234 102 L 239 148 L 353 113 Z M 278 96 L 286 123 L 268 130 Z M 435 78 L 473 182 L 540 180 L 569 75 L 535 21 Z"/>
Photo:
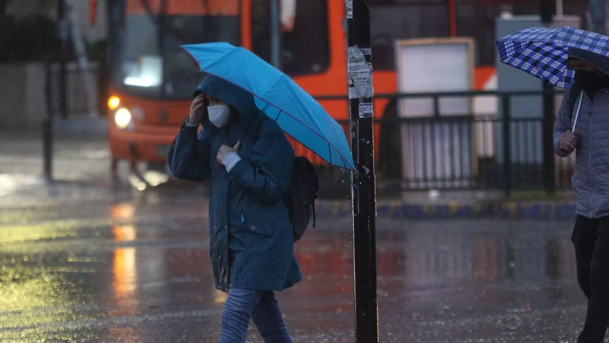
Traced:
<path id="1" fill-rule="evenodd" d="M 476 65 L 495 65 L 495 21 L 502 7 L 514 15 L 538 15 L 540 4 L 529 0 L 455 0 L 457 35 L 473 37 Z M 581 0 L 564 0 L 565 15 L 584 16 Z M 448 37 L 446 0 L 375 0 L 371 16 L 371 45 L 375 70 L 395 69 L 395 40 Z M 585 26 L 583 26 L 585 27 Z"/>

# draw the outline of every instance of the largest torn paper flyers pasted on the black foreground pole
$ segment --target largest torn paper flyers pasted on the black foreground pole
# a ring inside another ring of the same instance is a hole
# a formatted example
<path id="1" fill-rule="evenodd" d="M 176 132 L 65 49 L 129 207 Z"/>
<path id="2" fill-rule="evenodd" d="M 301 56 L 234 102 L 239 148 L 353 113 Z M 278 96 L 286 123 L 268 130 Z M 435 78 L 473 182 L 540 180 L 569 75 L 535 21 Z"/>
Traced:
<path id="1" fill-rule="evenodd" d="M 374 94 L 372 65 L 366 61 L 364 50 L 367 49 L 360 49 L 357 45 L 349 48 L 349 99 L 371 98 Z"/>

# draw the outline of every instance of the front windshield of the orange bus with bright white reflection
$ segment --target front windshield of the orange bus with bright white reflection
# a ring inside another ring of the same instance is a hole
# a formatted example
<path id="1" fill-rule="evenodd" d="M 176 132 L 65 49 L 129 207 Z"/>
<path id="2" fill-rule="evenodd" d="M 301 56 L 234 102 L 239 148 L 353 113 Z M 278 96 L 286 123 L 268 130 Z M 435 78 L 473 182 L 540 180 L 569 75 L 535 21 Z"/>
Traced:
<path id="1" fill-rule="evenodd" d="M 236 13 L 127 13 L 118 24 L 113 84 L 146 98 L 191 98 L 202 73 L 181 45 L 241 44 L 240 18 Z"/>

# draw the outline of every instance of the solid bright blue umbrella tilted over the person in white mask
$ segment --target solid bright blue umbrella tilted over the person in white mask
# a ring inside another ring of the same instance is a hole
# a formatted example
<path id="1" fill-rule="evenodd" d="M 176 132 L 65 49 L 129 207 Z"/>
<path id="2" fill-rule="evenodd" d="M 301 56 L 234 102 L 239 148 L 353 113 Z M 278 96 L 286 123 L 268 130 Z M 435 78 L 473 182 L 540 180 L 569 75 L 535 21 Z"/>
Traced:
<path id="1" fill-rule="evenodd" d="M 286 74 L 229 43 L 183 45 L 205 73 L 244 88 L 281 129 L 326 162 L 355 169 L 345 131 Z"/>

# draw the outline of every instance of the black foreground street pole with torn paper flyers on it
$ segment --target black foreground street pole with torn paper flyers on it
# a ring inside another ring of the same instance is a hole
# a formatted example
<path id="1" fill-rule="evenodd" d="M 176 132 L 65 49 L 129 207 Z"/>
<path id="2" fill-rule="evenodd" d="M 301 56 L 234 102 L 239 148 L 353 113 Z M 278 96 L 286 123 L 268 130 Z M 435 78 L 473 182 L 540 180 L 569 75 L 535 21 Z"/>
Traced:
<path id="1" fill-rule="evenodd" d="M 373 134 L 371 0 L 346 0 L 353 171 L 353 268 L 356 343 L 378 342 L 376 188 Z"/>

